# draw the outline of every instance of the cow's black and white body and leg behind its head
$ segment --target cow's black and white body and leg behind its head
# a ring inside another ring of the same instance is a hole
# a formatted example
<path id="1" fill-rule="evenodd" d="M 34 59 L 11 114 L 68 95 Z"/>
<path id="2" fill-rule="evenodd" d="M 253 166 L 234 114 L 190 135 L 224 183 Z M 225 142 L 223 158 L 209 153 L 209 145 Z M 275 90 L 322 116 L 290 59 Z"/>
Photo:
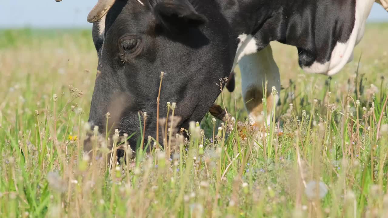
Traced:
<path id="1" fill-rule="evenodd" d="M 271 87 L 280 90 L 280 75 L 269 42 L 297 47 L 300 67 L 306 72 L 336 74 L 352 61 L 353 49 L 364 35 L 365 22 L 374 3 L 373 0 L 262 2 L 237 3 L 241 24 L 236 26 L 245 28 L 238 30 L 239 46 L 233 66 L 239 63 L 242 95 L 244 102 L 248 102 L 246 109 L 252 122 L 261 120 L 265 78 L 267 111 L 271 111 L 279 98 L 270 95 Z M 253 15 L 246 13 L 256 8 L 259 10 Z M 255 17 L 255 21 L 244 22 L 248 17 Z"/>

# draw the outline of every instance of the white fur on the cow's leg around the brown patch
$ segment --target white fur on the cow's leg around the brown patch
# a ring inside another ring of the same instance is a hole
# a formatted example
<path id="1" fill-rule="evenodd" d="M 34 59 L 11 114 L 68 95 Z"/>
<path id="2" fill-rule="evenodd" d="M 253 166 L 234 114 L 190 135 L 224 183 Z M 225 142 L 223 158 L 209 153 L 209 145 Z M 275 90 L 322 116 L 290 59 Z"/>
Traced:
<path id="1" fill-rule="evenodd" d="M 259 52 L 254 54 L 243 55 L 240 57 L 239 66 L 241 71 L 241 88 L 242 95 L 245 96 L 247 92 L 252 89 L 264 90 L 263 85 L 265 86 L 265 81 L 268 81 L 267 84 L 267 93 L 272 92 L 271 87 L 275 87 L 277 92 L 280 92 L 280 73 L 279 68 L 276 65 L 274 57 L 272 55 L 271 45 L 263 48 Z M 268 99 L 272 99 L 269 107 L 273 106 L 273 103 L 279 101 L 279 94 L 275 95 L 275 99 L 272 96 L 269 96 Z M 261 99 L 259 99 L 261 100 Z M 248 110 L 248 108 L 247 108 Z M 263 119 L 261 113 L 257 110 L 249 111 L 249 118 L 251 123 L 262 123 L 260 119 Z M 271 111 L 267 110 L 267 124 L 270 123 Z"/>

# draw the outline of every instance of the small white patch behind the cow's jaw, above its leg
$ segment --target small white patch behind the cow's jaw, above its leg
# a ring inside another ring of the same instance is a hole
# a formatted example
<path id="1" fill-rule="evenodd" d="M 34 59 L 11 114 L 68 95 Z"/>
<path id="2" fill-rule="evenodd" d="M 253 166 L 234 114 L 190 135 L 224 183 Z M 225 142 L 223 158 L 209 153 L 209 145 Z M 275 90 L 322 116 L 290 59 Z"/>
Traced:
<path id="1" fill-rule="evenodd" d="M 257 52 L 257 45 L 255 38 L 252 35 L 241 34 L 238 39 L 240 40 L 239 45 L 237 46 L 236 57 L 234 58 L 232 71 L 239 63 L 242 57 L 249 54 L 254 54 Z"/>

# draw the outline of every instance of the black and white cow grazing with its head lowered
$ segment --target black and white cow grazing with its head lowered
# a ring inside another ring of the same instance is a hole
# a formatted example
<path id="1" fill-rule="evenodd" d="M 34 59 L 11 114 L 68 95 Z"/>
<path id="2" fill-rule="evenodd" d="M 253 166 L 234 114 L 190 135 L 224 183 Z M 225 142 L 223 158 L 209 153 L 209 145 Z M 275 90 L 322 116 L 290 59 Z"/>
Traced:
<path id="1" fill-rule="evenodd" d="M 61 0 L 57 0 L 61 1 Z M 88 16 L 99 63 L 89 121 L 156 136 L 156 100 L 165 72 L 160 116 L 177 102 L 178 127 L 201 121 L 220 94 L 216 85 L 239 64 L 249 118 L 263 111 L 263 87 L 280 90 L 269 45 L 298 48 L 306 72 L 333 75 L 352 60 L 374 0 L 99 0 Z M 381 2 L 387 5 L 385 0 Z M 270 95 L 267 105 L 279 96 Z M 269 115 L 270 116 L 270 115 Z M 269 118 L 268 116 L 268 118 Z M 114 121 L 114 123 L 113 123 Z M 139 131 L 138 131 L 139 132 Z M 161 134 L 161 131 L 159 131 Z M 136 135 L 139 137 L 140 134 Z M 136 145 L 137 137 L 130 139 Z M 160 135 L 159 138 L 162 138 Z"/>

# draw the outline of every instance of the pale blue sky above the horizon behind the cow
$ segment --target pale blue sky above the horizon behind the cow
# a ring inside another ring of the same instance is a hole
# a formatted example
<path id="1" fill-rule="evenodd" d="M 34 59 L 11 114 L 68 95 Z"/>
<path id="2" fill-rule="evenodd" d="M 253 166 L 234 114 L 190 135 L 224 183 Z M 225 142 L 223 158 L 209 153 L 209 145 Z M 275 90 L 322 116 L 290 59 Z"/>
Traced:
<path id="1" fill-rule="evenodd" d="M 87 14 L 97 0 L 0 0 L 0 28 L 91 28 Z M 77 2 L 77 3 L 76 3 Z M 375 3 L 370 22 L 388 22 L 388 13 Z"/>

